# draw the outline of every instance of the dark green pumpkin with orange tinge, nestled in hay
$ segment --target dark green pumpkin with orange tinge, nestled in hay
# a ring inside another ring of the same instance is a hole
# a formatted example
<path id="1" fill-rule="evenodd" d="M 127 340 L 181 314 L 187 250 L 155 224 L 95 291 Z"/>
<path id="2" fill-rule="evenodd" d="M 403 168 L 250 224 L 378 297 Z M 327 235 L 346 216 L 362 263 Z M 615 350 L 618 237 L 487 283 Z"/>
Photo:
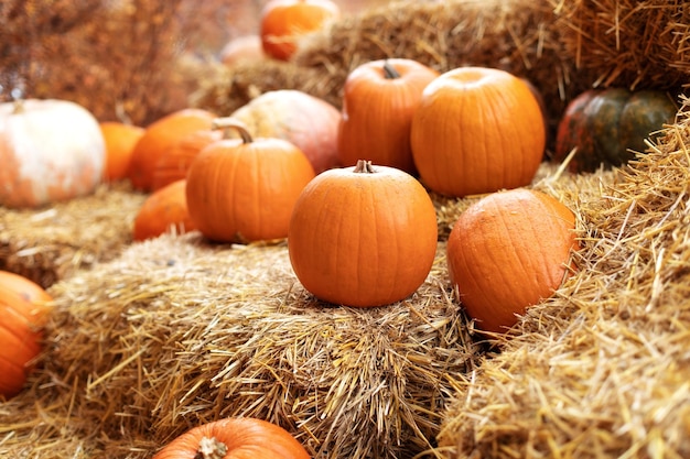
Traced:
<path id="1" fill-rule="evenodd" d="M 591 89 L 573 99 L 558 127 L 557 161 L 578 147 L 570 170 L 592 172 L 619 166 L 647 150 L 653 139 L 678 112 L 667 92 L 628 91 L 623 88 Z"/>

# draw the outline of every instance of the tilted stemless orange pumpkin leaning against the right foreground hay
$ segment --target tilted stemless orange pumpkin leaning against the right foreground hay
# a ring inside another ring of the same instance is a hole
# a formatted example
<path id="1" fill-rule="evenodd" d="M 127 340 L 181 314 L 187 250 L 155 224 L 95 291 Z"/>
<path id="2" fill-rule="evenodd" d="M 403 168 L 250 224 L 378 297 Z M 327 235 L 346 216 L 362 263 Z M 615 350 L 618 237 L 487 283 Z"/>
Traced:
<path id="1" fill-rule="evenodd" d="M 517 188 L 490 194 L 460 215 L 448 270 L 478 328 L 505 332 L 572 272 L 575 216 L 558 199 Z"/>

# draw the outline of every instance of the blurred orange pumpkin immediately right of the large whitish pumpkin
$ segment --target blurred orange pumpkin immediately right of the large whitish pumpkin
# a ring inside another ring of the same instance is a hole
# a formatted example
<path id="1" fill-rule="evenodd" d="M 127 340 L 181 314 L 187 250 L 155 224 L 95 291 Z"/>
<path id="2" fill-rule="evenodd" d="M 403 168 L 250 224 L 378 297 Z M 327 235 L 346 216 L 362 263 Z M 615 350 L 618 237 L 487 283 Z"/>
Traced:
<path id="1" fill-rule="evenodd" d="M 119 121 L 104 121 L 99 125 L 106 142 L 104 179 L 106 182 L 121 181 L 127 177 L 134 145 L 143 135 L 144 129 Z"/>

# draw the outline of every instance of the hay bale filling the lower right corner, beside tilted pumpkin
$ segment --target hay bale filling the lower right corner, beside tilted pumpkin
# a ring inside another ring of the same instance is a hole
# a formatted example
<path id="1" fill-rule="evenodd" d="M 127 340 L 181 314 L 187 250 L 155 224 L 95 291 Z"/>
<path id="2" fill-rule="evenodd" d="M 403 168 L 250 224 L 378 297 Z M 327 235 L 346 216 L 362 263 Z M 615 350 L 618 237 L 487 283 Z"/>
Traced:
<path id="1" fill-rule="evenodd" d="M 690 457 L 690 105 L 581 200 L 578 275 L 459 387 L 450 457 Z"/>

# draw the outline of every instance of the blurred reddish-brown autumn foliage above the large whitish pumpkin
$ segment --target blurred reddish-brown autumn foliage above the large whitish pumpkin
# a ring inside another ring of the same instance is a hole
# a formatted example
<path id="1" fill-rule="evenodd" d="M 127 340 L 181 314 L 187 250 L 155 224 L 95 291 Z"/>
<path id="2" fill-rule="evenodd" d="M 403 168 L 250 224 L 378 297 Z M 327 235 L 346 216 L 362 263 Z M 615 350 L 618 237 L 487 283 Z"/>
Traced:
<path id="1" fill-rule="evenodd" d="M 3 0 L 0 100 L 61 98 L 145 125 L 185 107 L 267 0 Z M 344 12 L 385 1 L 342 0 Z"/>

